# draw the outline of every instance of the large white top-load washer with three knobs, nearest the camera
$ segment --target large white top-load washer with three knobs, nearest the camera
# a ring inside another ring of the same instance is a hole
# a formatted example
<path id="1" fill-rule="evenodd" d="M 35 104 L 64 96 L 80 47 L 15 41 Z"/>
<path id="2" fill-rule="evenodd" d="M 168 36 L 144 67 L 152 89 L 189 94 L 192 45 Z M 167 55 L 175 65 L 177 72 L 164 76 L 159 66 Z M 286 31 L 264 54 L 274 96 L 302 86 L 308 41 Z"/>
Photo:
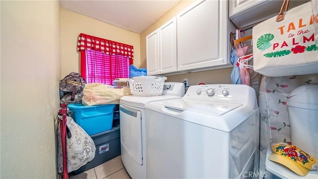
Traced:
<path id="1" fill-rule="evenodd" d="M 259 109 L 246 85 L 191 86 L 146 104 L 147 178 L 257 178 Z"/>

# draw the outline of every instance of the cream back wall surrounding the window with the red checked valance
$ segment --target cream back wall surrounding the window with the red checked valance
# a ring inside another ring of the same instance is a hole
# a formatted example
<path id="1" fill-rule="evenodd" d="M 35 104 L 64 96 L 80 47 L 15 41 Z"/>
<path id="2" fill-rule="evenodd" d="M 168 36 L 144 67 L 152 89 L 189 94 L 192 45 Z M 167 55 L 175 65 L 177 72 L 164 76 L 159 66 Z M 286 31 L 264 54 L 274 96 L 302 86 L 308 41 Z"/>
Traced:
<path id="1" fill-rule="evenodd" d="M 62 77 L 80 72 L 77 41 L 80 33 L 134 46 L 134 65 L 140 67 L 140 35 L 105 22 L 61 8 Z"/>

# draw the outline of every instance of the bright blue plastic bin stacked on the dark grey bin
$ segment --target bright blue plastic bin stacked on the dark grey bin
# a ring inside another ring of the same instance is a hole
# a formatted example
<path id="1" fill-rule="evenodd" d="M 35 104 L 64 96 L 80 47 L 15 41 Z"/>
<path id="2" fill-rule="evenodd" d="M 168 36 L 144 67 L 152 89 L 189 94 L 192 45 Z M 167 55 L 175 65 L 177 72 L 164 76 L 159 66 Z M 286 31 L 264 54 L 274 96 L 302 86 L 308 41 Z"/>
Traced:
<path id="1" fill-rule="evenodd" d="M 69 104 L 73 119 L 88 135 L 110 130 L 113 125 L 115 104 L 91 105 Z"/>

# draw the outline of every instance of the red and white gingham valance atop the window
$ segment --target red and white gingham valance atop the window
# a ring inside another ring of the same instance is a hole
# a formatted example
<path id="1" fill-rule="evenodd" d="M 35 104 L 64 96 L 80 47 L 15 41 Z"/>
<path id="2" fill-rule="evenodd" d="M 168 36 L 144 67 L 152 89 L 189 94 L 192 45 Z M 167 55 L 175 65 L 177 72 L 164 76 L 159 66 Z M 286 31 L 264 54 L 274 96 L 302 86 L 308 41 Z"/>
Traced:
<path id="1" fill-rule="evenodd" d="M 134 60 L 134 46 L 114 42 L 91 35 L 79 34 L 78 51 L 80 50 L 98 50 L 111 55 L 123 55 Z"/>

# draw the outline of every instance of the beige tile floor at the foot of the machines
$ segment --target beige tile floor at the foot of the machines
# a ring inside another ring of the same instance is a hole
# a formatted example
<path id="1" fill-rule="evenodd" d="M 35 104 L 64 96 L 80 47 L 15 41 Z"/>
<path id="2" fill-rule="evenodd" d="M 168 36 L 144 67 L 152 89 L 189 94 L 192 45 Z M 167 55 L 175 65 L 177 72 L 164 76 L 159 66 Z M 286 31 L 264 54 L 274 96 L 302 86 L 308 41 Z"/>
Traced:
<path id="1" fill-rule="evenodd" d="M 131 179 L 127 174 L 121 157 L 118 156 L 99 166 L 80 173 L 79 175 L 69 175 L 69 179 Z"/>

